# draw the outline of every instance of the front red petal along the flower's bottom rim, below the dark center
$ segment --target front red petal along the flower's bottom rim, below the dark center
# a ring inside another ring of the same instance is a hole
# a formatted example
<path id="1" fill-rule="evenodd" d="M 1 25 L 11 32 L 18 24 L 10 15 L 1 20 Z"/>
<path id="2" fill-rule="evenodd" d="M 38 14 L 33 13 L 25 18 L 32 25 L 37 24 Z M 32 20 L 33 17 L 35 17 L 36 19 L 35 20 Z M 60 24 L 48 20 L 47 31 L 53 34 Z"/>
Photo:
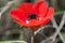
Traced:
<path id="1" fill-rule="evenodd" d="M 39 24 L 40 24 L 40 22 L 39 20 L 37 20 L 37 19 L 30 19 L 29 20 L 29 24 L 26 24 L 25 22 L 17 22 L 17 20 L 15 20 L 17 24 L 20 24 L 20 25 L 22 25 L 22 26 L 26 26 L 26 27 L 34 27 L 34 26 L 38 26 Z"/>

